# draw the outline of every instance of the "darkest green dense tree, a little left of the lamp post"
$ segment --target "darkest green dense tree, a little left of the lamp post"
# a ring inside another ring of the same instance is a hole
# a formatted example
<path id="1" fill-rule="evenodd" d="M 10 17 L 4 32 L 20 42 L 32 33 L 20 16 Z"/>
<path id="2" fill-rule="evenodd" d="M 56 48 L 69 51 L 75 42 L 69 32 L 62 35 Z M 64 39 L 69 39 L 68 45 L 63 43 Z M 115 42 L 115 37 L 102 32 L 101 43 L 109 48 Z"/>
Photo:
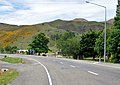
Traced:
<path id="1" fill-rule="evenodd" d="M 93 57 L 93 59 L 95 58 L 96 52 L 94 47 L 97 38 L 98 33 L 93 30 L 88 31 L 81 36 L 80 49 L 82 51 L 82 55 L 85 57 Z"/>

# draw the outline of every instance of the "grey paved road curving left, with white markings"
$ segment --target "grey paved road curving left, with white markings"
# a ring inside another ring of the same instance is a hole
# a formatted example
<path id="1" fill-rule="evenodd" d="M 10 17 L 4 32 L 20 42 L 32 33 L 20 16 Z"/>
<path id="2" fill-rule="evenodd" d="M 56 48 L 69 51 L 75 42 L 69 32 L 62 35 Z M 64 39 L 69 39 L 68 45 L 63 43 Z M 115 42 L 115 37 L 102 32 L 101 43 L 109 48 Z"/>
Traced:
<path id="1" fill-rule="evenodd" d="M 120 65 L 53 57 L 23 57 L 20 77 L 10 85 L 120 85 Z"/>

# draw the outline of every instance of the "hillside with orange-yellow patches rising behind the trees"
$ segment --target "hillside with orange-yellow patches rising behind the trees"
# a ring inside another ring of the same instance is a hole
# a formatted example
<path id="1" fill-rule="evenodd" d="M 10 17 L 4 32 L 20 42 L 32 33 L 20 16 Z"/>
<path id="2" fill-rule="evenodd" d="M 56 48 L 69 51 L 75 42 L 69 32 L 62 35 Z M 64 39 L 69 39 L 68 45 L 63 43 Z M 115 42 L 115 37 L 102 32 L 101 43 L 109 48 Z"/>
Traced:
<path id="1" fill-rule="evenodd" d="M 112 23 L 107 23 L 108 27 L 112 26 Z M 6 47 L 7 45 L 16 45 L 20 49 L 27 49 L 28 44 L 32 41 L 32 38 L 43 32 L 49 37 L 49 46 L 54 50 L 55 41 L 51 38 L 56 34 L 62 34 L 66 30 L 73 31 L 75 33 L 83 33 L 87 30 L 102 30 L 104 23 L 87 21 L 85 19 L 74 19 L 71 21 L 55 20 L 52 22 L 45 22 L 36 25 L 8 25 L 0 24 L 0 45 Z"/>

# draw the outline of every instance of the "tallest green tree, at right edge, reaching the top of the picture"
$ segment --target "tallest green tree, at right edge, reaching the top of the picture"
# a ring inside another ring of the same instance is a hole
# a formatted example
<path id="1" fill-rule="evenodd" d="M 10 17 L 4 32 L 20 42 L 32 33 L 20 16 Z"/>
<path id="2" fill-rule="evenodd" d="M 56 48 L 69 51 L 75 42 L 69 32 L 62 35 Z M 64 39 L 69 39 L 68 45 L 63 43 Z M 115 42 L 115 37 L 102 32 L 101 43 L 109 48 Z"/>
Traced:
<path id="1" fill-rule="evenodd" d="M 108 51 L 111 53 L 111 62 L 120 62 L 120 0 L 118 0 L 114 27 L 108 38 Z"/>

